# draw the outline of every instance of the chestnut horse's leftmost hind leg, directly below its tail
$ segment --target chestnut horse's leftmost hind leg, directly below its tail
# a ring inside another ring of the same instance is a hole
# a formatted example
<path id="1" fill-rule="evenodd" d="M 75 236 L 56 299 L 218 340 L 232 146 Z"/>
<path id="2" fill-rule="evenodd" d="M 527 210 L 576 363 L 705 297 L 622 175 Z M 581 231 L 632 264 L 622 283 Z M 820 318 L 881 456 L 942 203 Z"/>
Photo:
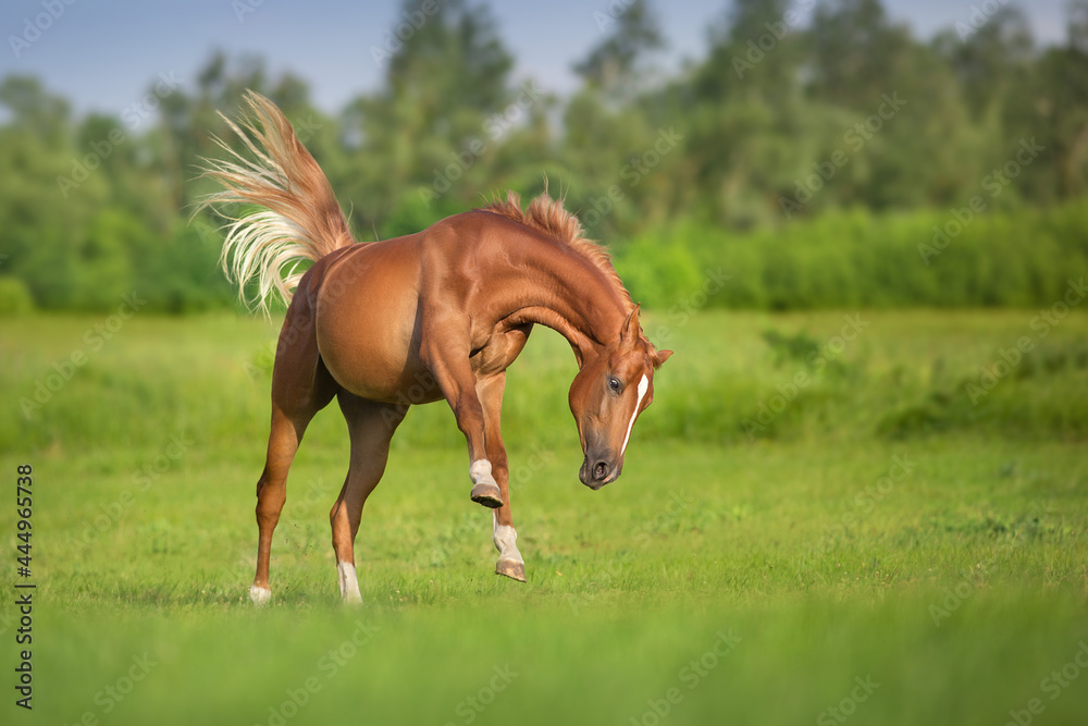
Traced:
<path id="1" fill-rule="evenodd" d="M 329 405 L 336 383 L 321 362 L 310 306 L 296 296 L 287 310 L 272 370 L 272 426 L 264 471 L 257 482 L 257 576 L 249 598 L 258 605 L 271 599 L 269 561 L 272 532 L 287 499 L 287 470 L 313 416 Z"/>

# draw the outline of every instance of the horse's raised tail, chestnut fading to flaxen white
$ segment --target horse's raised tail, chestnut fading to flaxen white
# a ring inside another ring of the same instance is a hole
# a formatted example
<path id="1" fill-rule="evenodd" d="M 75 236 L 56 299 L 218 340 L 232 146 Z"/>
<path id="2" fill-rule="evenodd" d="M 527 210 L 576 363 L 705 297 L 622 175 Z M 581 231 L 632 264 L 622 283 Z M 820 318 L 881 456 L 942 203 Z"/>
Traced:
<path id="1" fill-rule="evenodd" d="M 287 118 L 260 94 L 247 90 L 245 98 L 251 116 L 239 119 L 240 128 L 220 115 L 254 159 L 217 138 L 230 157 L 205 160 L 205 174 L 224 188 L 201 199 L 198 209 L 215 206 L 230 220 L 221 257 L 223 271 L 238 284 L 243 299 L 246 283 L 256 280 L 255 302 L 267 311 L 273 291 L 284 304 L 290 303 L 305 272 L 300 262 L 317 261 L 355 239 L 329 180 L 295 136 Z M 242 205 L 243 210 L 233 216 L 220 205 Z"/>

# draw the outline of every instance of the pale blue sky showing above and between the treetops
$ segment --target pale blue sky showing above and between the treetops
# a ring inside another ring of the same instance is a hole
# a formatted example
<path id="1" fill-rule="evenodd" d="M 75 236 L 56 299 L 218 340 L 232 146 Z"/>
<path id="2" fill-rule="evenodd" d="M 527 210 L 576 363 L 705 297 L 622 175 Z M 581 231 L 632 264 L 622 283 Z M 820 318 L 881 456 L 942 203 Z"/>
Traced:
<path id="1" fill-rule="evenodd" d="M 885 0 L 885 5 L 916 36 L 927 38 L 966 21 L 973 5 L 1003 1 Z M 571 63 L 602 37 L 594 13 L 606 12 L 609 0 L 491 0 L 490 4 L 517 59 L 516 76 L 534 76 L 542 88 L 564 94 L 576 85 Z M 684 58 L 701 56 L 707 27 L 729 4 L 657 0 L 669 42 L 662 64 L 677 67 Z M 1037 39 L 1063 39 L 1064 0 L 1030 0 L 1022 7 Z M 49 8 L 55 20 L 46 14 Z M 71 99 L 77 113 L 118 114 L 138 101 L 160 73 L 189 83 L 212 50 L 222 48 L 232 57 L 263 56 L 273 73 L 289 69 L 301 75 L 318 107 L 334 112 L 379 86 L 382 71 L 372 48 L 383 45 L 390 28 L 403 20 L 399 15 L 400 3 L 395 0 L 4 0 L 0 75 L 33 73 Z M 48 21 L 37 37 L 37 28 L 27 32 L 27 22 L 36 19 L 41 26 Z M 33 41 L 17 41 L 13 48 L 13 36 Z"/>

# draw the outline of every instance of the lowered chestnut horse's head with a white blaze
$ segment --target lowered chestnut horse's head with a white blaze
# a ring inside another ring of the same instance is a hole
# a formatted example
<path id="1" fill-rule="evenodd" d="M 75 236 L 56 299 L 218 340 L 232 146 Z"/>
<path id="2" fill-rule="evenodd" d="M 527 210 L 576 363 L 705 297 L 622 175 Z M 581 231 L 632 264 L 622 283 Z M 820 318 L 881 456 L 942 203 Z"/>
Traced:
<path id="1" fill-rule="evenodd" d="M 582 360 L 570 384 L 570 410 L 585 454 L 578 478 L 590 489 L 619 477 L 634 420 L 654 399 L 654 371 L 670 355 L 642 336 L 635 308 L 616 343 Z"/>

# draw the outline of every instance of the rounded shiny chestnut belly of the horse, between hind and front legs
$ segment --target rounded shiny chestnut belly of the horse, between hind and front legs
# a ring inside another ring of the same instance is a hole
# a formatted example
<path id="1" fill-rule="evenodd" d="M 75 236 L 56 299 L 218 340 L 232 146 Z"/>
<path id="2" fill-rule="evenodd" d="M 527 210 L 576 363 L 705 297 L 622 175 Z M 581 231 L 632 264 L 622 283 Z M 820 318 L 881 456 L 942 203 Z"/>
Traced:
<path id="1" fill-rule="evenodd" d="M 410 404 L 440 397 L 419 360 L 416 269 L 395 255 L 358 254 L 322 281 L 318 350 L 336 382 L 356 395 Z"/>

